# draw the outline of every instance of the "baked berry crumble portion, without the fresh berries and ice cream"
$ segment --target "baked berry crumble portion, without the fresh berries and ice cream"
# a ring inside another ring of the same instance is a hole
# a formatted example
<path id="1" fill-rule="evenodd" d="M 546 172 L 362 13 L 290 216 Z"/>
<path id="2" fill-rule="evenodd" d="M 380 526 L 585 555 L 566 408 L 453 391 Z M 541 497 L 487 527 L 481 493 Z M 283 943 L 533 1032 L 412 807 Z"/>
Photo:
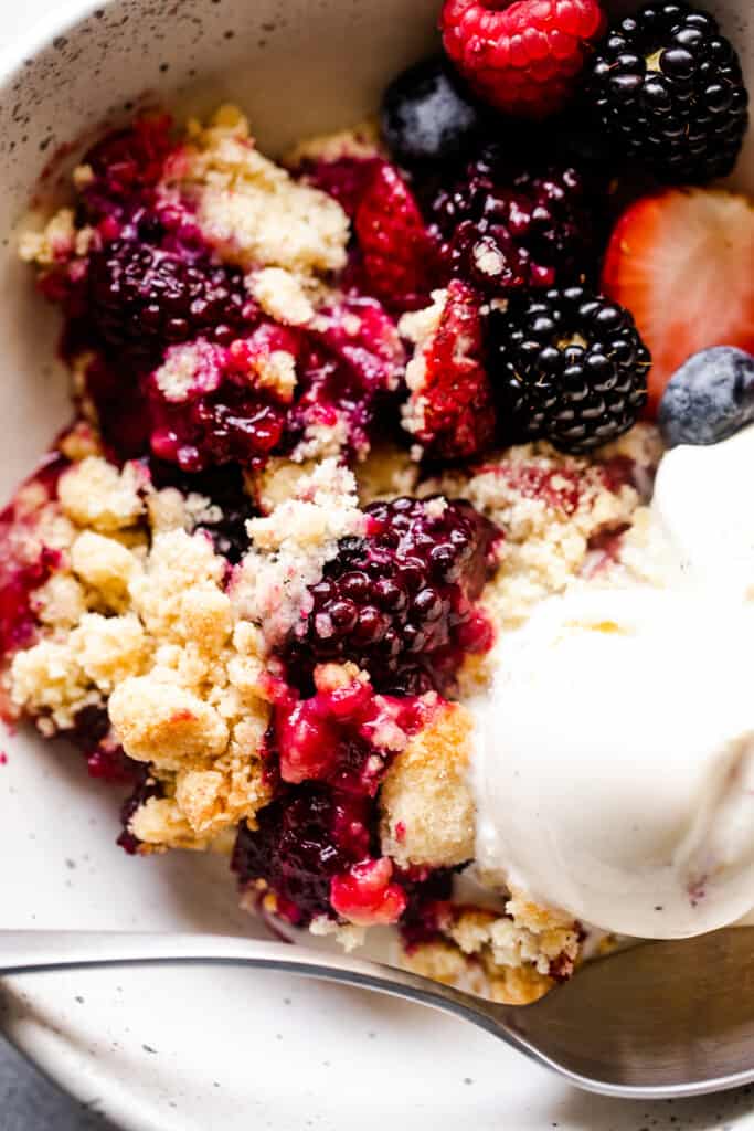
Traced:
<path id="1" fill-rule="evenodd" d="M 374 275 L 380 195 L 416 216 L 373 127 L 283 167 L 235 107 L 146 116 L 73 188 L 20 243 L 76 412 L 0 519 L 6 714 L 124 788 L 128 852 L 226 852 L 250 909 L 349 948 L 395 924 L 410 968 L 536 1000 L 584 932 L 500 877 L 454 897 L 468 702 L 500 634 L 627 568 L 653 430 L 501 433 L 497 300 L 416 232 Z"/>

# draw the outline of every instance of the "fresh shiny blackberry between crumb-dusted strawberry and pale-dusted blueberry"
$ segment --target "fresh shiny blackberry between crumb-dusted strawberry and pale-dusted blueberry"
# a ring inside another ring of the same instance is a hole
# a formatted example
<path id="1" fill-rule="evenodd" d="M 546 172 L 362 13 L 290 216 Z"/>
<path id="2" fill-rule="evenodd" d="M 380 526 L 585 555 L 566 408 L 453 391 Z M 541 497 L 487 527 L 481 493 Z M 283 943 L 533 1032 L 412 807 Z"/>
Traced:
<path id="1" fill-rule="evenodd" d="M 626 432 L 647 402 L 651 364 L 627 310 L 583 287 L 514 295 L 489 318 L 489 375 L 510 441 L 562 451 Z"/>

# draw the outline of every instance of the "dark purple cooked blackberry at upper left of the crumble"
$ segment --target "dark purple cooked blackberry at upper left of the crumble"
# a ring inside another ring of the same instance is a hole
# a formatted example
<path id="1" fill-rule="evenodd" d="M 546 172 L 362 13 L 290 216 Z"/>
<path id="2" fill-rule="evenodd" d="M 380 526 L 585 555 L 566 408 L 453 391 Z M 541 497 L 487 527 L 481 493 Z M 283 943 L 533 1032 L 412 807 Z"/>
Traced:
<path id="1" fill-rule="evenodd" d="M 239 268 L 189 264 L 136 240 L 114 240 L 89 257 L 88 297 L 109 346 L 149 356 L 199 335 L 227 345 L 253 307 Z"/>

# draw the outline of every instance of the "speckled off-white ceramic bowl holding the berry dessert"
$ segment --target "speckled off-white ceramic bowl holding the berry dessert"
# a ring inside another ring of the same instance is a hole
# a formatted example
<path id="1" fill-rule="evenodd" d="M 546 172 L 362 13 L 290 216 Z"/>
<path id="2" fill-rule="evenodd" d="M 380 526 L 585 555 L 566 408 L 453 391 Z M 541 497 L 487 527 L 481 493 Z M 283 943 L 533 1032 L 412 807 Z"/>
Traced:
<path id="1" fill-rule="evenodd" d="M 0 55 L 3 499 L 68 413 L 52 360 L 55 319 L 15 258 L 17 222 L 58 148 L 127 114 L 145 93 L 183 109 L 232 96 L 272 152 L 349 124 L 432 42 L 437 7 L 112 0 L 95 10 L 76 2 L 47 12 Z M 754 79 L 749 0 L 709 7 Z M 752 145 L 739 173 L 749 185 Z M 47 178 L 43 191 L 54 190 Z M 121 853 L 116 800 L 63 745 L 27 731 L 2 745 L 2 926 L 260 930 L 236 909 L 224 862 Z M 675 1105 L 590 1097 L 460 1022 L 283 976 L 163 969 L 12 978 L 1 987 L 0 1025 L 50 1076 L 132 1131 L 346 1131 L 354 1123 L 456 1131 L 465 1121 L 475 1131 L 754 1128 L 748 1093 Z"/>

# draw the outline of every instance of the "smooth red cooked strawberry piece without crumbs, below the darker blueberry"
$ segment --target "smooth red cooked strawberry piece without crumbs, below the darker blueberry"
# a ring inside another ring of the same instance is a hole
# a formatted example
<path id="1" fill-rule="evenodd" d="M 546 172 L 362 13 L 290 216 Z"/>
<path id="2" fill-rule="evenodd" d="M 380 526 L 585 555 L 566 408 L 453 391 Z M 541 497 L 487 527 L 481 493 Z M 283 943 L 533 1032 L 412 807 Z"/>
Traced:
<path id="1" fill-rule="evenodd" d="M 433 285 L 434 244 L 414 195 L 392 165 L 376 169 L 355 230 L 373 293 L 393 310 L 424 305 Z"/>

